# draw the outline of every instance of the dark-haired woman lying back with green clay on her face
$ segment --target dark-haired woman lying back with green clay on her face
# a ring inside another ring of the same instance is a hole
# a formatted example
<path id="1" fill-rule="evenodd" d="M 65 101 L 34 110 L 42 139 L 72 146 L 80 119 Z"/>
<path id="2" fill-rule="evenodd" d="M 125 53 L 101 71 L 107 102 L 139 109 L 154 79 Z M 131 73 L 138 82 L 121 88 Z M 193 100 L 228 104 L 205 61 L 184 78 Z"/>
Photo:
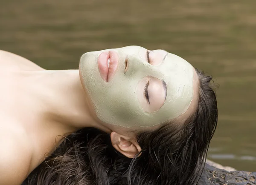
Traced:
<path id="1" fill-rule="evenodd" d="M 61 136 L 29 183 L 197 182 L 218 113 L 212 78 L 186 60 L 128 46 L 86 53 L 79 70 L 47 71 L 0 56 L 1 183 L 20 184 Z"/>

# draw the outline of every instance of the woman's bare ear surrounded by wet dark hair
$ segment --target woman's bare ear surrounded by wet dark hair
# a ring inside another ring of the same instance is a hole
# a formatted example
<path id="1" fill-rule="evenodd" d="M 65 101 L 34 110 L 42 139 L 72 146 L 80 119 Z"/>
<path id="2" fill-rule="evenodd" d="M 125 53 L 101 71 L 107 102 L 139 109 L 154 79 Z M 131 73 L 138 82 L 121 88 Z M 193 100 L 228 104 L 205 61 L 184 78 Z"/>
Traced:
<path id="1" fill-rule="evenodd" d="M 110 134 L 111 142 L 114 148 L 128 158 L 134 158 L 141 151 L 136 138 L 129 138 L 116 132 Z"/>

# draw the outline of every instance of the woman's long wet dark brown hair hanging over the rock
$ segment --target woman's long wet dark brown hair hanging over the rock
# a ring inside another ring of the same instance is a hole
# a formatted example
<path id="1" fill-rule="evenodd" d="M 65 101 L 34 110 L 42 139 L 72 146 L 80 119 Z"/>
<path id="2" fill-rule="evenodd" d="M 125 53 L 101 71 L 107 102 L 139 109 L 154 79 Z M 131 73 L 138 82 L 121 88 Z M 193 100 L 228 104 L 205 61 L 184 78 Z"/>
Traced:
<path id="1" fill-rule="evenodd" d="M 84 128 L 68 136 L 26 179 L 27 185 L 194 185 L 218 120 L 212 77 L 199 77 L 197 110 L 181 126 L 164 124 L 137 134 L 142 151 L 129 159 L 110 134 Z"/>

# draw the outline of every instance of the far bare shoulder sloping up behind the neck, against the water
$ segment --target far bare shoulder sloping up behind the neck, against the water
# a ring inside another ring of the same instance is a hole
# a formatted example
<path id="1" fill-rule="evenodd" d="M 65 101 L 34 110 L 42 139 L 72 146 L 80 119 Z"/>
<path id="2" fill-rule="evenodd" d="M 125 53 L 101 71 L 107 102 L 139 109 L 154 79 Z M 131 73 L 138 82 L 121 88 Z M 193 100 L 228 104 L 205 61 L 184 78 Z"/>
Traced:
<path id="1" fill-rule="evenodd" d="M 0 50 L 0 69 L 33 71 L 43 68 L 17 54 Z"/>

